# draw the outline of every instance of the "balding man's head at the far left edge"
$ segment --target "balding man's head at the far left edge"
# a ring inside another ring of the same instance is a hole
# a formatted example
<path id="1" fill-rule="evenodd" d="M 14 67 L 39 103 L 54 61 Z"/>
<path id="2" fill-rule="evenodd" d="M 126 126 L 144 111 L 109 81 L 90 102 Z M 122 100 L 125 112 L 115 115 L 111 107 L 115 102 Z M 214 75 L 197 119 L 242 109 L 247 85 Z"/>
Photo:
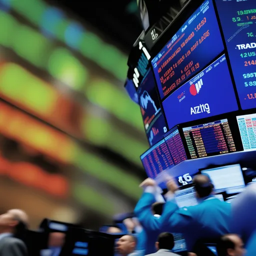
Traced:
<path id="1" fill-rule="evenodd" d="M 20 234 L 28 224 L 27 214 L 20 209 L 10 209 L 0 215 L 0 233 Z"/>

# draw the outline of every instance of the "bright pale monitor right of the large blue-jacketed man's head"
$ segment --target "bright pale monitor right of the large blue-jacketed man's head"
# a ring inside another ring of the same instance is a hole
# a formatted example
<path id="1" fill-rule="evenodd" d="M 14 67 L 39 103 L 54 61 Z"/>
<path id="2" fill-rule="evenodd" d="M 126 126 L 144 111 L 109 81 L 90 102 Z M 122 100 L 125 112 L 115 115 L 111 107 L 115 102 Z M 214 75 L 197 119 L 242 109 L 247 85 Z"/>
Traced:
<path id="1" fill-rule="evenodd" d="M 211 179 L 215 192 L 227 194 L 239 193 L 245 188 L 245 182 L 240 164 L 215 167 L 201 170 Z"/>

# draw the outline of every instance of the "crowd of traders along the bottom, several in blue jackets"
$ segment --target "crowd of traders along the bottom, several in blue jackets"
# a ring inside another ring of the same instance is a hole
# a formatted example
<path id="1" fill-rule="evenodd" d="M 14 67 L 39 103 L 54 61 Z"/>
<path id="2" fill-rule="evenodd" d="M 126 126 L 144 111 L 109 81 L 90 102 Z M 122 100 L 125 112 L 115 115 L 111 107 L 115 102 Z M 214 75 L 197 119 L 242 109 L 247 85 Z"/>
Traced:
<path id="1" fill-rule="evenodd" d="M 101 230 L 119 235 L 115 238 L 115 255 L 177 255 L 172 252 L 173 234 L 177 233 L 184 237 L 189 256 L 256 255 L 255 184 L 247 186 L 231 203 L 214 196 L 214 186 L 206 175 L 196 175 L 193 185 L 198 203 L 179 208 L 175 201 L 178 186 L 173 178 L 166 181 L 168 191 L 164 195 L 153 179 L 145 179 L 133 217 L 122 221 L 125 228 L 112 224 Z M 27 228 L 28 216 L 20 209 L 0 215 L 0 256 L 28 255 L 24 242 Z M 48 241 L 48 248 L 40 250 L 40 255 L 71 255 L 63 249 L 63 233 L 50 233 Z"/>

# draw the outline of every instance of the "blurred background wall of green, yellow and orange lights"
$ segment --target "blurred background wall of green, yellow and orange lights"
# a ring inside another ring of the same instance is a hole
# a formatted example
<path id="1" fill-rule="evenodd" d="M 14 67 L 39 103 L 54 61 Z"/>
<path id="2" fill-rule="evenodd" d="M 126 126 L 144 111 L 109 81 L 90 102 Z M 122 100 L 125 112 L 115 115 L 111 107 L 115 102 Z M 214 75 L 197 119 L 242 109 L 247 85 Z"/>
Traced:
<path id="1" fill-rule="evenodd" d="M 115 4 L 0 0 L 0 211 L 32 228 L 98 228 L 140 195 L 148 144 L 123 83 L 141 27 L 135 1 Z"/>

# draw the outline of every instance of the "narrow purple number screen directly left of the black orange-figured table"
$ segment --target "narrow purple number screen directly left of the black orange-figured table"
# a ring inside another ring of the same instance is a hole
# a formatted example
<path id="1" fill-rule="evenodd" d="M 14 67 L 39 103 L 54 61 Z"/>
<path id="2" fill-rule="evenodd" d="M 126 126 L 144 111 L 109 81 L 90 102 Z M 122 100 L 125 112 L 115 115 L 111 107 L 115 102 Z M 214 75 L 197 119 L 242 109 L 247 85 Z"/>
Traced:
<path id="1" fill-rule="evenodd" d="M 171 154 L 173 163 L 176 165 L 186 160 L 185 148 L 183 146 L 179 131 L 177 128 L 170 130 L 169 134 L 164 138 Z"/>

